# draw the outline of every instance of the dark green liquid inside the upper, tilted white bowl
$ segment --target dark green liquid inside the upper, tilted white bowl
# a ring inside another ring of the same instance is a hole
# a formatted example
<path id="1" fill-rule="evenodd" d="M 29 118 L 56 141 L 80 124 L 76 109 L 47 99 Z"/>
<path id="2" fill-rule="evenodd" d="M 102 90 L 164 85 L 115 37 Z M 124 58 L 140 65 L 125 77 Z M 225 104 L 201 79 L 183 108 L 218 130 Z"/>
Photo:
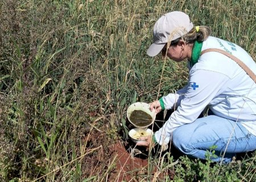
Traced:
<path id="1" fill-rule="evenodd" d="M 139 127 L 150 125 L 153 118 L 142 110 L 134 110 L 130 115 L 130 121 Z"/>

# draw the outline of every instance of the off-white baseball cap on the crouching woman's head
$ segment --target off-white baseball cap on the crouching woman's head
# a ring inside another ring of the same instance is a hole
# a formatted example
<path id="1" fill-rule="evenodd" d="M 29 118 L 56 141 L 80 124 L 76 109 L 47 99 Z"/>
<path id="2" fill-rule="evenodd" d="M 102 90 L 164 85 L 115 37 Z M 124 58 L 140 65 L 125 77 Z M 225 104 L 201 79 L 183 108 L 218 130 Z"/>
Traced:
<path id="1" fill-rule="evenodd" d="M 154 25 L 153 43 L 147 49 L 147 55 L 151 57 L 158 55 L 167 42 L 180 38 L 192 28 L 193 23 L 187 14 L 181 11 L 164 14 Z"/>

